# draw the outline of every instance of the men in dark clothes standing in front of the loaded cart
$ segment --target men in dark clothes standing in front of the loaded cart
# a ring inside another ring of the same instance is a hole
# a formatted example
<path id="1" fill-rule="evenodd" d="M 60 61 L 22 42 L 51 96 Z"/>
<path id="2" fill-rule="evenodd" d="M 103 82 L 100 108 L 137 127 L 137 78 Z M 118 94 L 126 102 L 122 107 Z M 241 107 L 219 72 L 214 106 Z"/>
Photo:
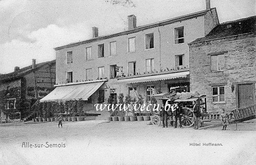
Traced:
<path id="1" fill-rule="evenodd" d="M 194 101 L 193 104 L 193 120 L 194 120 L 194 129 L 198 130 L 199 129 L 199 120 L 201 117 L 201 108 L 200 108 L 200 103 L 198 103 L 199 101 Z M 179 123 L 180 123 L 180 128 L 182 127 L 182 123 L 181 123 L 181 117 L 182 115 L 184 115 L 184 111 L 180 105 L 179 102 L 176 103 L 176 106 L 173 110 L 165 110 L 165 105 L 166 102 L 163 100 L 163 104 L 161 107 L 161 116 L 163 117 L 162 123 L 163 123 L 163 128 L 168 128 L 168 118 L 169 116 L 171 117 L 171 126 L 173 126 L 173 116 L 175 118 L 175 123 L 174 123 L 174 128 L 177 128 L 177 124 L 178 124 L 178 119 L 179 119 Z"/>

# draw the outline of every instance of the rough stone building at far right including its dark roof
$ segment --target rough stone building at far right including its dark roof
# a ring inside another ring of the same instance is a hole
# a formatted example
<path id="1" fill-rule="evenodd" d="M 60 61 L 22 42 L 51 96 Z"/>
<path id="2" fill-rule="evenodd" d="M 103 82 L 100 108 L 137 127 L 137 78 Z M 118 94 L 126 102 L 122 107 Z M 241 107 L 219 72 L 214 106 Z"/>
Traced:
<path id="1" fill-rule="evenodd" d="M 256 103 L 256 16 L 221 23 L 189 43 L 190 88 L 209 111 Z"/>

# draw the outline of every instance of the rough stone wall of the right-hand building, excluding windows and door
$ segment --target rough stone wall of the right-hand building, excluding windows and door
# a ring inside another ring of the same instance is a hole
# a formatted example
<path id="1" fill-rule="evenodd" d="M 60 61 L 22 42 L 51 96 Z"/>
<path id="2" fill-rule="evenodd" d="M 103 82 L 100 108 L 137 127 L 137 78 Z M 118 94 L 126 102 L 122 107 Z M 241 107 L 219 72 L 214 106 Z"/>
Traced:
<path id="1" fill-rule="evenodd" d="M 225 85 L 225 103 L 212 103 L 207 98 L 208 111 L 238 108 L 237 84 L 256 82 L 256 35 L 245 34 L 190 45 L 190 88 L 212 96 L 212 86 Z M 211 72 L 211 53 L 224 53 L 224 71 Z M 232 92 L 231 86 L 235 86 Z M 255 90 L 255 88 L 254 88 Z M 254 92 L 254 97 L 255 93 Z M 256 98 L 254 99 L 254 103 Z"/>

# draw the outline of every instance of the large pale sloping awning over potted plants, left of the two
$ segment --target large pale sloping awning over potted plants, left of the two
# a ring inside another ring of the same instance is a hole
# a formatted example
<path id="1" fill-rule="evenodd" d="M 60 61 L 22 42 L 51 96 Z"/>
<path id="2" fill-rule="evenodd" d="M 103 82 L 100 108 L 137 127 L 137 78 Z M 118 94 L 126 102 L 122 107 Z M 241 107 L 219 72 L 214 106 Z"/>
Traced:
<path id="1" fill-rule="evenodd" d="M 40 102 L 57 102 L 67 100 L 87 100 L 106 80 L 74 82 L 70 84 L 55 85 L 56 88 L 43 97 Z"/>

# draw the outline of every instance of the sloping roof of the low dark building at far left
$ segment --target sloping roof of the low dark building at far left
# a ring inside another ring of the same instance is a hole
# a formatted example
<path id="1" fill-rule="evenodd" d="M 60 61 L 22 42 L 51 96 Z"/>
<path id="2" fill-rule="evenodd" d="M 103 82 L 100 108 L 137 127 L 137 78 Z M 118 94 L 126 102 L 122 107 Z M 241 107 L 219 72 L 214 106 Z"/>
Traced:
<path id="1" fill-rule="evenodd" d="M 37 69 L 40 69 L 45 65 L 51 65 L 51 64 L 55 63 L 55 61 L 56 60 L 52 60 L 52 61 L 48 61 L 48 62 L 41 62 L 41 63 L 35 64 L 34 69 L 32 69 L 32 65 L 29 65 L 27 67 L 19 69 L 16 72 L 11 72 L 11 73 L 0 75 L 0 82 L 5 82 L 5 81 L 10 81 L 10 80 L 15 80 L 15 79 L 21 78 L 22 76 L 25 76 Z"/>

